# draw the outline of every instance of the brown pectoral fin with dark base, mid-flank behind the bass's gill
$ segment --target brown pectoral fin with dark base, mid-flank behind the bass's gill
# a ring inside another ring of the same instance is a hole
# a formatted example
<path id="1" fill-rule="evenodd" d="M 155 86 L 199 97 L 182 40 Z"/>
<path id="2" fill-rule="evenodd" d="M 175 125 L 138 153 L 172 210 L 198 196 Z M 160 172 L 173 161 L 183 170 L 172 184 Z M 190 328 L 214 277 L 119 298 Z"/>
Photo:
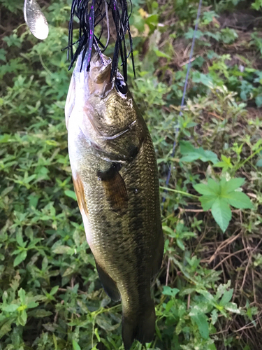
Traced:
<path id="1" fill-rule="evenodd" d="M 105 196 L 110 202 L 112 210 L 118 214 L 124 214 L 128 207 L 128 197 L 126 184 L 119 174 L 120 168 L 119 163 L 112 163 L 110 169 L 107 172 L 99 172 L 98 177 L 103 183 Z"/>

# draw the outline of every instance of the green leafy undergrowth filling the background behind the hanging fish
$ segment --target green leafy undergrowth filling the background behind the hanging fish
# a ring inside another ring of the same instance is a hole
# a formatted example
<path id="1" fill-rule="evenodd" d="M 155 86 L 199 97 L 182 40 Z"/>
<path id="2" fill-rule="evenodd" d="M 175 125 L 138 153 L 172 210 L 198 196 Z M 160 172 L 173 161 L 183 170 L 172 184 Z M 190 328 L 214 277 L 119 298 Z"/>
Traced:
<path id="1" fill-rule="evenodd" d="M 101 288 L 68 161 L 71 1 L 49 2 L 41 42 L 22 1 L 0 0 L 0 349 L 123 350 L 121 306 Z M 198 3 L 133 6 L 129 85 L 166 198 L 156 337 L 133 349 L 261 349 L 262 2 L 204 1 L 182 116 Z"/>

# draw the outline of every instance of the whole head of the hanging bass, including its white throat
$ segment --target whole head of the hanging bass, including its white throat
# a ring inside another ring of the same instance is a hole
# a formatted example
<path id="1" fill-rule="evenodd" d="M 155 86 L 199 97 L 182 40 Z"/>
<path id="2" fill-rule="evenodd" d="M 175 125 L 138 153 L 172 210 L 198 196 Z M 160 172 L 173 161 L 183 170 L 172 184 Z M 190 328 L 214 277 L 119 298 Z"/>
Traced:
<path id="1" fill-rule="evenodd" d="M 114 157 L 128 158 L 145 137 L 145 122 L 122 74 L 117 70 L 111 76 L 110 57 L 94 52 L 87 71 L 87 55 L 82 55 L 69 87 L 73 93 L 68 92 L 66 101 L 66 125 L 70 115 L 78 120 L 81 116 L 80 129 L 89 144 Z M 75 107 L 77 113 L 71 113 Z"/>

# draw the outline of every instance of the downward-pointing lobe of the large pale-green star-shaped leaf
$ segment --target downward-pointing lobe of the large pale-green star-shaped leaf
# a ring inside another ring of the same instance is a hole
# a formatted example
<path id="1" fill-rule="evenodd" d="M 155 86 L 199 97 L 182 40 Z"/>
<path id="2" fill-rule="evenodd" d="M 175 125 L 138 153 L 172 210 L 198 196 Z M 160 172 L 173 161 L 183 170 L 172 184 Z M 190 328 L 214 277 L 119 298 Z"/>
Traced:
<path id="1" fill-rule="evenodd" d="M 212 216 L 223 232 L 231 221 L 231 209 L 224 198 L 217 198 L 211 208 Z"/>

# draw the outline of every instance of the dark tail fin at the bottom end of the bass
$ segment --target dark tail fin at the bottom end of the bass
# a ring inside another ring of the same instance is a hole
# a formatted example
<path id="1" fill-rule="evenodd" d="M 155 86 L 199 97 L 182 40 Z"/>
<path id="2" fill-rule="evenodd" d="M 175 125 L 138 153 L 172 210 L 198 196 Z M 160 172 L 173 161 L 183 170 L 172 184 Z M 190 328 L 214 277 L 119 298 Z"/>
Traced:
<path id="1" fill-rule="evenodd" d="M 150 300 L 150 303 L 143 306 L 142 309 L 143 311 L 136 316 L 125 313 L 123 309 L 122 338 L 124 350 L 129 350 L 135 339 L 145 344 L 152 342 L 154 338 L 156 314 L 153 300 Z"/>

